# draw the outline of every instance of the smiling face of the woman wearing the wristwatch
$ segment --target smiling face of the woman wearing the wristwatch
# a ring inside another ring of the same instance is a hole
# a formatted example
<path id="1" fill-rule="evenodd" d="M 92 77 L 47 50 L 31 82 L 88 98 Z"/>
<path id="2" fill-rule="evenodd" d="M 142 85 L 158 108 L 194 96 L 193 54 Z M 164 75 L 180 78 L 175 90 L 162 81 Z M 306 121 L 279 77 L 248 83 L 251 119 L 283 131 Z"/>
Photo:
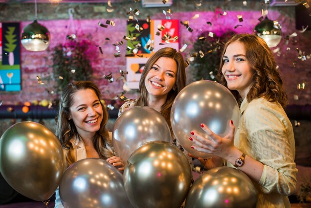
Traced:
<path id="1" fill-rule="evenodd" d="M 254 71 L 247 59 L 244 45 L 239 41 L 232 42 L 223 57 L 222 73 L 230 90 L 236 90 L 244 99 L 253 85 Z"/>

